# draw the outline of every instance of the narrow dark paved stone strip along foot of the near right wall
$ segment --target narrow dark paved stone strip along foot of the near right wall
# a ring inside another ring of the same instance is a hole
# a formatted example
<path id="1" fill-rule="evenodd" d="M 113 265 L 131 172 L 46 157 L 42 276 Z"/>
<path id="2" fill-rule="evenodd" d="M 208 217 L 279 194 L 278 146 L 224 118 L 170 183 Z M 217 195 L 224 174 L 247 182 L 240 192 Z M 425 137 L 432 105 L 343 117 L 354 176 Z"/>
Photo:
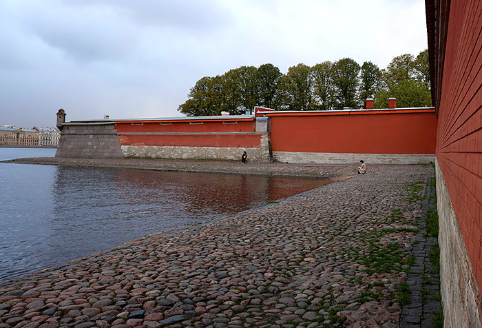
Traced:
<path id="1" fill-rule="evenodd" d="M 436 190 L 430 181 L 426 186 L 426 198 L 422 202 L 419 232 L 413 246 L 414 263 L 410 267 L 407 283 L 410 286 L 410 303 L 402 309 L 400 328 L 432 327 L 434 316 L 441 311 L 440 274 L 430 263 L 433 248 L 438 245 L 437 237 L 426 236 L 426 214 L 437 210 L 437 199 L 432 198 Z M 437 251 L 436 251 L 437 252 Z"/>

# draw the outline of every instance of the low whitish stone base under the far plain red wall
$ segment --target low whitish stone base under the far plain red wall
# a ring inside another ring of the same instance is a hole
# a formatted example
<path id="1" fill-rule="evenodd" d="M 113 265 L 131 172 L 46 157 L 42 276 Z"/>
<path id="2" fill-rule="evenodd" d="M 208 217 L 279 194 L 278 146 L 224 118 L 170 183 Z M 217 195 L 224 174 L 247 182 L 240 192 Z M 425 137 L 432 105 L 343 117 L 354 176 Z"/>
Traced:
<path id="1" fill-rule="evenodd" d="M 273 152 L 273 160 L 282 163 L 353 164 L 428 164 L 432 154 L 342 154 L 324 152 Z"/>

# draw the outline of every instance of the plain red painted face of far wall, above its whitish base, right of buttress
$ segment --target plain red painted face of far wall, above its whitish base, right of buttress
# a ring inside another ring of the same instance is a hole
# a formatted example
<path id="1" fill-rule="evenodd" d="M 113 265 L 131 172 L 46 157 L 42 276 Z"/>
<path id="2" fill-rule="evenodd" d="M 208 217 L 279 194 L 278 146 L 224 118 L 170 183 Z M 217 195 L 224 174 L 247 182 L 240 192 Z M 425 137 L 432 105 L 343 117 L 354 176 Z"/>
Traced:
<path id="1" fill-rule="evenodd" d="M 273 152 L 435 154 L 434 110 L 386 113 L 268 114 L 271 146 Z"/>

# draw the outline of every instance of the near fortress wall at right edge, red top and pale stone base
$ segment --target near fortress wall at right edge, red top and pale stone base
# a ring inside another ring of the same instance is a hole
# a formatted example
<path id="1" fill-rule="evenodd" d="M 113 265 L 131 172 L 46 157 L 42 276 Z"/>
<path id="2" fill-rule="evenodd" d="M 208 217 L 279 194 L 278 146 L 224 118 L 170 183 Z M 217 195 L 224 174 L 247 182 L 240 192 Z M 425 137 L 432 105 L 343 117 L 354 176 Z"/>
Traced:
<path id="1" fill-rule="evenodd" d="M 482 327 L 482 1 L 426 0 L 446 327 Z"/>

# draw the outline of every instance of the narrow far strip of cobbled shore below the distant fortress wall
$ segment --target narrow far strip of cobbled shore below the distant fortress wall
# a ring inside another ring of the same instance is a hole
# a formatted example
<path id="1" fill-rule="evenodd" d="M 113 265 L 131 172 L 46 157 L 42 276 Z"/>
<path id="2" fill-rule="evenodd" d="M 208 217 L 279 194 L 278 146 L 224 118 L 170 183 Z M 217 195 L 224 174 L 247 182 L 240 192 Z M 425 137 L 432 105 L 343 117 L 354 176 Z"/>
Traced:
<path id="1" fill-rule="evenodd" d="M 189 161 L 147 158 L 16 158 L 0 163 L 65 165 L 74 167 L 123 168 L 164 172 L 199 172 L 220 174 L 249 174 L 256 176 L 292 176 L 298 178 L 339 178 L 357 175 L 357 163 L 351 164 L 288 164 L 248 163 L 237 161 Z M 377 172 L 383 165 L 370 165 L 369 172 Z"/>

